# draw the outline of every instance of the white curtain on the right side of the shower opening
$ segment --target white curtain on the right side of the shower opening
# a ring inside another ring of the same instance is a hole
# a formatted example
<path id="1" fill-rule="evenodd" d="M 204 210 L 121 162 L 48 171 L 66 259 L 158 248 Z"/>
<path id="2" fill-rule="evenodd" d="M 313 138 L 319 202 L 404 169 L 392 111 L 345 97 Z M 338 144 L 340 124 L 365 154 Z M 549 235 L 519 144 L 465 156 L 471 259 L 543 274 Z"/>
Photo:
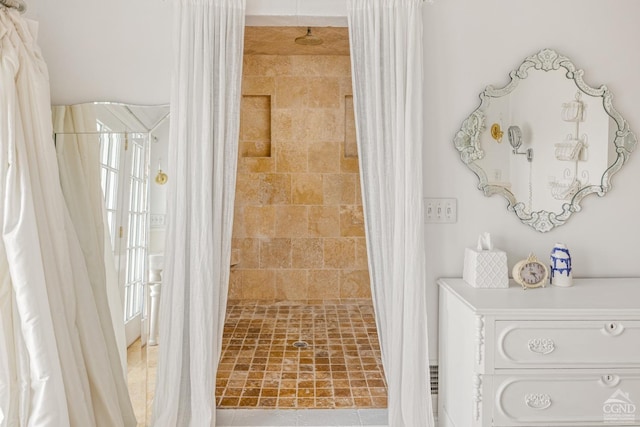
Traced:
<path id="1" fill-rule="evenodd" d="M 392 427 L 434 425 L 422 206 L 423 4 L 348 3 L 367 251 Z"/>

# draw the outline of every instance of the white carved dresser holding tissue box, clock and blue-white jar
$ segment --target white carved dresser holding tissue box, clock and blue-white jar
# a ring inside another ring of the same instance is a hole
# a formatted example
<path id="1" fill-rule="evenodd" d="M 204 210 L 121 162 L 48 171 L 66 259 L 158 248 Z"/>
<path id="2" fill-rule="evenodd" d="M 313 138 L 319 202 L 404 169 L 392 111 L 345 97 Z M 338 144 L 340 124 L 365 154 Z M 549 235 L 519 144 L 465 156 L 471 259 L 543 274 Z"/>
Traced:
<path id="1" fill-rule="evenodd" d="M 440 290 L 440 427 L 640 426 L 640 279 Z"/>

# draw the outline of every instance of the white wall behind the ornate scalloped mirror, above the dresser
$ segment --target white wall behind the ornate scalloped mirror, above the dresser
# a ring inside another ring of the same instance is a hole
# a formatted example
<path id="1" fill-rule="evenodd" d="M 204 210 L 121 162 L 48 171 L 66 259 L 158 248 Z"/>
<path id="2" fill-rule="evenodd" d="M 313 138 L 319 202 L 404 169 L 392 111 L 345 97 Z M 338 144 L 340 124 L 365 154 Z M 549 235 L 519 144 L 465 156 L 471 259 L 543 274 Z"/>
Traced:
<path id="1" fill-rule="evenodd" d="M 426 230 L 432 330 L 435 280 L 462 275 L 464 247 L 475 245 L 483 231 L 507 251 L 509 267 L 530 251 L 546 260 L 554 242 L 561 241 L 571 250 L 576 276 L 640 276 L 640 152 L 614 176 L 605 198 L 587 197 L 566 225 L 537 233 L 507 212 L 502 197 L 486 198 L 477 190 L 476 176 L 452 143 L 484 87 L 506 84 L 509 72 L 542 48 L 568 56 L 592 86 L 607 84 L 614 106 L 640 135 L 639 15 L 637 0 L 435 0 L 426 7 L 425 196 L 458 199 L 456 224 L 428 224 Z M 544 292 L 527 292 L 538 291 Z M 432 360 L 436 342 L 433 336 Z"/>

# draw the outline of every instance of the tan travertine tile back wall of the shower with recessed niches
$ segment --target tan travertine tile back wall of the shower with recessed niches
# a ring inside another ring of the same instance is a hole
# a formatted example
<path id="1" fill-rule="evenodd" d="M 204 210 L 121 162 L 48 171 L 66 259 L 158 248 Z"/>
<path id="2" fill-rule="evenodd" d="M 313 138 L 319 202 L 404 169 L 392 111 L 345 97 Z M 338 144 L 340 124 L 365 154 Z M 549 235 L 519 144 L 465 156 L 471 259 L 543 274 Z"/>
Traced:
<path id="1" fill-rule="evenodd" d="M 229 298 L 370 298 L 348 56 L 245 55 Z"/>

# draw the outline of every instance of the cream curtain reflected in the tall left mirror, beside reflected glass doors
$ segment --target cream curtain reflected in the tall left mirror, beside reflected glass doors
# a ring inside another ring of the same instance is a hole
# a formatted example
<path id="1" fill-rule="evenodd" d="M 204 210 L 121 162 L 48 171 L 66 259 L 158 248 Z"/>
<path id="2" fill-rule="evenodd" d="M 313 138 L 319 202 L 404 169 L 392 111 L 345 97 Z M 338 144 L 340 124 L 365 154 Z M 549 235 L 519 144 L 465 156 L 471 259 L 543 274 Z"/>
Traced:
<path id="1" fill-rule="evenodd" d="M 97 300 L 103 333 L 112 362 L 127 373 L 127 345 L 124 332 L 123 295 L 120 292 L 116 262 L 106 224 L 106 209 L 100 184 L 100 141 L 94 134 L 93 106 L 58 105 L 53 107 L 53 128 L 60 133 L 56 140 L 58 169 L 62 193 L 80 239 L 82 252 Z M 113 369 L 117 367 L 113 366 Z M 120 390 L 127 396 L 126 384 Z"/>

